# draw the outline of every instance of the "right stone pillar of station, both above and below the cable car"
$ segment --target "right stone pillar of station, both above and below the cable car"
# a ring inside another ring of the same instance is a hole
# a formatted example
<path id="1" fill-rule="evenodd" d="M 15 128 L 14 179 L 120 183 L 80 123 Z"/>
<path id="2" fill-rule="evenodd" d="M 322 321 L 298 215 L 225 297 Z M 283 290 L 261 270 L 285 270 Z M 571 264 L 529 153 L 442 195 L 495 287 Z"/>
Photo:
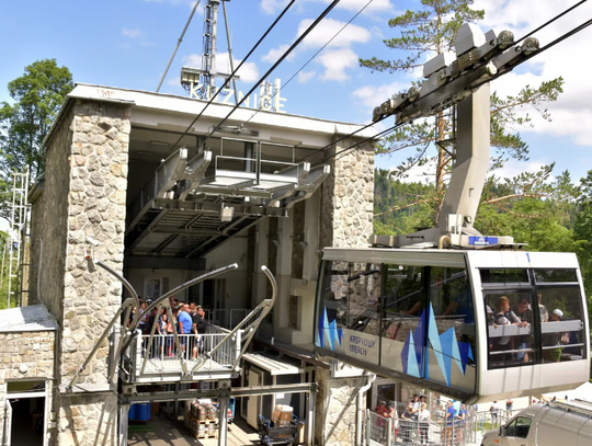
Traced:
<path id="1" fill-rule="evenodd" d="M 335 157 L 321 188 L 320 249 L 367 247 L 373 235 L 374 141 L 341 152 L 360 141 L 344 139 L 327 153 Z M 356 398 L 366 378 L 331 378 L 330 370 L 317 368 L 317 385 L 315 444 L 354 445 Z"/>

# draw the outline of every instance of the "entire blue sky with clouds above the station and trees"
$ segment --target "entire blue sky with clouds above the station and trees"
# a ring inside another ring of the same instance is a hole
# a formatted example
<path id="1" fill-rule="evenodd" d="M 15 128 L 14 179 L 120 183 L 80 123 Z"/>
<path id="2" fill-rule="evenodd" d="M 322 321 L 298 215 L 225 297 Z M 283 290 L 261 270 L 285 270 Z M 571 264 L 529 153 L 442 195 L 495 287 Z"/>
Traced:
<path id="1" fill-rule="evenodd" d="M 510 30 L 516 37 L 534 30 L 577 0 L 476 0 L 483 9 L 483 32 Z M 251 49 L 282 11 L 287 0 L 228 1 L 228 23 L 236 64 Z M 296 0 L 278 25 L 247 60 L 239 76 L 239 90 L 247 92 L 327 7 L 329 0 Z M 372 111 L 391 94 L 407 89 L 418 73 L 377 73 L 358 65 L 358 58 L 399 58 L 383 39 L 396 36 L 388 20 L 408 9 L 421 8 L 419 0 L 373 0 L 366 9 L 288 84 L 320 49 L 368 0 L 342 0 L 319 26 L 274 71 L 282 79 L 284 110 L 299 115 L 367 124 Z M 186 0 L 0 0 L 0 102 L 10 101 L 7 85 L 22 76 L 35 60 L 55 58 L 70 69 L 75 82 L 155 91 L 193 8 Z M 182 66 L 198 67 L 202 53 L 203 4 L 200 4 L 169 70 L 161 92 L 186 96 L 180 85 Z M 592 18 L 585 3 L 553 25 L 536 33 L 545 45 Z M 228 68 L 228 43 L 219 18 L 218 68 Z M 515 94 L 525 85 L 561 76 L 565 92 L 545 104 L 551 122 L 543 121 L 532 107 L 521 110 L 533 117 L 533 127 L 516 127 L 530 146 L 530 160 L 510 162 L 498 176 L 513 176 L 556 162 L 554 173 L 568 170 L 578 181 L 592 169 L 592 66 L 589 42 L 592 27 L 523 64 L 515 72 L 491 84 L 499 95 Z M 228 71 L 229 68 L 228 68 Z M 219 82 L 220 84 L 221 82 Z M 387 119 L 384 127 L 394 124 Z M 413 155 L 413 149 L 379 157 L 377 165 L 389 169 Z M 428 168 L 411 172 L 411 180 L 430 180 Z"/>

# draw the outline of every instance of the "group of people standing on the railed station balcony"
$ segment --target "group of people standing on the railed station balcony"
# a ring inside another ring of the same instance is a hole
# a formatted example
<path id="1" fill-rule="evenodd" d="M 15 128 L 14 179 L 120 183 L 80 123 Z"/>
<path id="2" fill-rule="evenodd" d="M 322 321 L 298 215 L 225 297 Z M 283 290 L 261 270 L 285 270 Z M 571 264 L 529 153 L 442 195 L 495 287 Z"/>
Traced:
<path id="1" fill-rule="evenodd" d="M 170 305 L 172 315 L 169 315 L 164 307 L 156 307 L 149 311 L 148 302 L 140 300 L 140 308 L 134 307 L 132 310 L 128 325 L 135 319 L 136 311 L 139 311 L 138 330 L 145 335 L 155 334 L 151 345 L 148 345 L 148 339 L 144 339 L 143 354 L 148 352 L 152 357 L 162 358 L 183 356 L 185 359 L 191 355 L 192 359 L 196 359 L 204 346 L 202 335 L 207 330 L 205 311 L 195 302 L 187 304 L 174 298 L 171 298 Z M 175 330 L 179 348 L 174 343 Z"/>

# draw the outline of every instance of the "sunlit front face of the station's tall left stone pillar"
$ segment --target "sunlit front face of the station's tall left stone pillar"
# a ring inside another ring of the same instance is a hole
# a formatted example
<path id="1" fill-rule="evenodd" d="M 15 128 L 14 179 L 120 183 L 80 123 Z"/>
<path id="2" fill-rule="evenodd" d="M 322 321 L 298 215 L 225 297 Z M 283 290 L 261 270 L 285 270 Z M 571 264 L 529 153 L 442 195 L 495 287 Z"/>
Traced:
<path id="1" fill-rule="evenodd" d="M 123 272 L 129 106 L 77 101 L 69 155 L 60 374 L 69 379 L 121 305 L 122 284 L 89 271 L 86 253 Z M 48 153 L 49 158 L 49 153 Z M 91 248 L 89 237 L 101 243 Z M 105 341 L 80 382 L 107 381 Z"/>

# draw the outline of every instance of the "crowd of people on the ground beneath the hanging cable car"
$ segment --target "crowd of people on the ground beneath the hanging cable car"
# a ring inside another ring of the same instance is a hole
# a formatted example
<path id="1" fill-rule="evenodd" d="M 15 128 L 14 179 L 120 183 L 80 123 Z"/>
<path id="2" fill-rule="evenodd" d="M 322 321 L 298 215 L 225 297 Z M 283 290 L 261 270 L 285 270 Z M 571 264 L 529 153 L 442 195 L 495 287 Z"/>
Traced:
<path id="1" fill-rule="evenodd" d="M 376 427 L 382 437 L 386 437 L 388 419 L 391 419 L 394 432 L 392 437 L 397 437 L 402 444 L 430 443 L 430 425 L 440 425 L 441 441 L 445 445 L 464 444 L 465 433 L 468 425 L 468 412 L 465 404 L 459 401 L 447 401 L 446 408 L 436 403 L 434 420 L 429 410 L 425 396 L 414 394 L 407 403 L 407 407 L 399 414 L 395 403 L 387 405 L 386 401 L 379 401 L 375 412 L 380 415 L 377 419 Z"/>

